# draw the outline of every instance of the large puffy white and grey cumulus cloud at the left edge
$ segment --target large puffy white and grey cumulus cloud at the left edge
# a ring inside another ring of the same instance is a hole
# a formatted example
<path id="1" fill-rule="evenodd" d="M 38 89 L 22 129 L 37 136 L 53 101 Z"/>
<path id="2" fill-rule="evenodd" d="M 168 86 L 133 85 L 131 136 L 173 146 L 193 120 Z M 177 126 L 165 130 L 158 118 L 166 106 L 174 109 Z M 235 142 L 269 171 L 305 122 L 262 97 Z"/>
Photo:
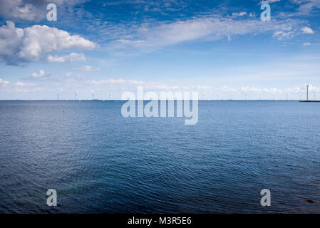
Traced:
<path id="1" fill-rule="evenodd" d="M 92 50 L 96 43 L 45 25 L 16 28 L 14 22 L 6 21 L 0 27 L 0 58 L 9 64 L 38 61 L 47 53 L 69 48 Z"/>

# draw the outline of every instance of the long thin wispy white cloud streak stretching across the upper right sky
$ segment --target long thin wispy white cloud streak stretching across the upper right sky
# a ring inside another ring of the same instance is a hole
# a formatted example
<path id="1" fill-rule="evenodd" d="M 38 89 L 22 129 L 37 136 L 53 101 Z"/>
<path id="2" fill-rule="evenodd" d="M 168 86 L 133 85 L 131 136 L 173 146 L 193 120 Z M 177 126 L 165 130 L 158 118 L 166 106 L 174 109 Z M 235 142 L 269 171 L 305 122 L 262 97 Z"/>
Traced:
<path id="1" fill-rule="evenodd" d="M 291 19 L 272 21 L 268 24 L 263 22 L 258 19 L 236 20 L 224 16 L 206 16 L 162 23 L 158 26 L 143 24 L 132 36 L 118 39 L 115 43 L 110 43 L 110 46 L 113 49 L 133 47 L 140 48 L 142 51 L 154 51 L 162 46 L 175 43 L 200 39 L 215 41 L 228 35 L 258 34 L 270 31 L 286 31 L 288 33 L 290 29 L 293 33 L 294 28 L 299 27 L 298 25 L 301 23 L 301 21 Z M 284 34 L 284 36 L 288 35 Z M 293 34 L 291 35 L 293 36 Z"/>

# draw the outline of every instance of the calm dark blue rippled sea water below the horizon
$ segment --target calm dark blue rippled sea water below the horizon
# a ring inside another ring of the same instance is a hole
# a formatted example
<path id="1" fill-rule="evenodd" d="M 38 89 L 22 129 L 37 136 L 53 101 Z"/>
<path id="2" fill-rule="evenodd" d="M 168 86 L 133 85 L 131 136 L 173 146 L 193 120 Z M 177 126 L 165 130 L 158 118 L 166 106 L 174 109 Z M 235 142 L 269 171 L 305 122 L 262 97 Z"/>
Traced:
<path id="1" fill-rule="evenodd" d="M 320 103 L 200 101 L 197 125 L 122 105 L 0 101 L 0 212 L 320 212 Z"/>

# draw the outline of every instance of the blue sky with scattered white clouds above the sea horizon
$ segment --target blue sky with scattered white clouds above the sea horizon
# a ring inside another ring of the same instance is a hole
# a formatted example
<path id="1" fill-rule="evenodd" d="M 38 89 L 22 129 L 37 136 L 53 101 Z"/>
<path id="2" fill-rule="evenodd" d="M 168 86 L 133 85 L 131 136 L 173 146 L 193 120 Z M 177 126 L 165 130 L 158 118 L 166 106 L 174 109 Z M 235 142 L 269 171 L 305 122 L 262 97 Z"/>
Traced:
<path id="1" fill-rule="evenodd" d="M 0 0 L 0 100 L 320 99 L 319 34 L 320 0 Z"/>

